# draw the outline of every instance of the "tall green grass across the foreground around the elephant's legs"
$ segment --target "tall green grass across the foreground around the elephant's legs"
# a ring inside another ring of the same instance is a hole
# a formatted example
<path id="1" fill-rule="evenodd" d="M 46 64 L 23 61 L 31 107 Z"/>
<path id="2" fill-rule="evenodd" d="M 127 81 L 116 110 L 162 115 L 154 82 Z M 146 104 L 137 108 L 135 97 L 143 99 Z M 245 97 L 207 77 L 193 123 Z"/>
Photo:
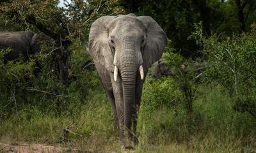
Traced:
<path id="1" fill-rule="evenodd" d="M 140 143 L 134 151 L 256 151 L 256 120 L 247 113 L 234 112 L 232 98 L 223 87 L 200 86 L 196 95 L 194 113 L 189 116 L 182 105 L 175 109 L 157 105 L 152 110 L 151 103 L 143 100 L 138 119 Z M 79 99 L 72 99 L 72 104 L 61 113 L 24 106 L 1 121 L 0 142 L 61 144 L 77 152 L 88 149 L 123 152 L 113 131 L 111 106 L 102 87 L 90 91 L 84 101 Z M 69 141 L 63 143 L 63 129 L 70 124 L 68 129 L 72 133 L 68 135 Z"/>

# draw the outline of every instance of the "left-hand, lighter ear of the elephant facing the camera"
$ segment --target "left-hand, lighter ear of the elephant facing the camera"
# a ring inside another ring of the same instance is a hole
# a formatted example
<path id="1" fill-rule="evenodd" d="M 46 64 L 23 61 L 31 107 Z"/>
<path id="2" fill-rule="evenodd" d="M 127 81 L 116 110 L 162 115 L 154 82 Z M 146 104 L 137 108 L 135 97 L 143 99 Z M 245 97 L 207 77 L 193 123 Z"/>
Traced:
<path id="1" fill-rule="evenodd" d="M 98 62 L 108 71 L 113 71 L 113 54 L 108 43 L 107 25 L 115 16 L 100 17 L 93 22 L 89 34 L 89 54 L 94 62 Z"/>

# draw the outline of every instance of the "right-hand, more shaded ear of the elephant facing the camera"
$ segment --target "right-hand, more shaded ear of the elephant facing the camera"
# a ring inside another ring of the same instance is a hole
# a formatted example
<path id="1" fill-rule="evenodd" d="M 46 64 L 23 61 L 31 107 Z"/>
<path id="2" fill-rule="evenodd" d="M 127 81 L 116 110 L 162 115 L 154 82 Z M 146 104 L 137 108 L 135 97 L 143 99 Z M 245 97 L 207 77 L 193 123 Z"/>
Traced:
<path id="1" fill-rule="evenodd" d="M 167 36 L 157 22 L 148 16 L 138 17 L 147 28 L 147 41 L 143 50 L 143 65 L 149 68 L 163 55 Z"/>

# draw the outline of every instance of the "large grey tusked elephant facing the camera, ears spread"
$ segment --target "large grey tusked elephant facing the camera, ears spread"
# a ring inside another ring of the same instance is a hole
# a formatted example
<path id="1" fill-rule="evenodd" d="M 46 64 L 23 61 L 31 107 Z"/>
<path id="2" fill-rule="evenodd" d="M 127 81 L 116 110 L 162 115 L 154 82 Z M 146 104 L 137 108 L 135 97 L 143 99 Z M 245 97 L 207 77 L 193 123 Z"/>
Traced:
<path id="1" fill-rule="evenodd" d="M 115 131 L 125 148 L 138 142 L 136 124 L 148 68 L 163 54 L 167 37 L 151 17 L 104 16 L 93 22 L 89 54 L 111 101 Z"/>

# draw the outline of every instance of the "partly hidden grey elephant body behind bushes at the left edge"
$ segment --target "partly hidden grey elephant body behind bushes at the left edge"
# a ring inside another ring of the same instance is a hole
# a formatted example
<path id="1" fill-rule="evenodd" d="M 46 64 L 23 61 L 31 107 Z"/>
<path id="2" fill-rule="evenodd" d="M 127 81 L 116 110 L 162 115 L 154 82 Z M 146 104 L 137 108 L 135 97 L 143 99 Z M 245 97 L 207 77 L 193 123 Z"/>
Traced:
<path id="1" fill-rule="evenodd" d="M 11 52 L 4 55 L 4 61 L 17 59 L 20 54 L 27 61 L 29 55 L 40 52 L 39 40 L 39 35 L 33 31 L 0 31 L 0 49 L 12 48 Z"/>

